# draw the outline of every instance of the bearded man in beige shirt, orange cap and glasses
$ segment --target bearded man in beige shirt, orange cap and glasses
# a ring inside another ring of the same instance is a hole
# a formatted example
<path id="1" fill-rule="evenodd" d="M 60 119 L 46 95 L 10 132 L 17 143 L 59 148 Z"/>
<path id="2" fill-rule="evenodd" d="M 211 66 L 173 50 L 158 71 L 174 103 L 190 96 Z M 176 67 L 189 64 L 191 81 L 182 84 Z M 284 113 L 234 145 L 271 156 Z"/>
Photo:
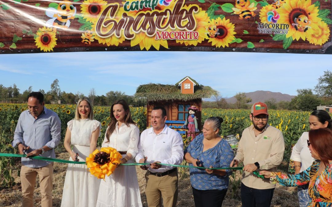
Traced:
<path id="1" fill-rule="evenodd" d="M 231 167 L 243 162 L 241 183 L 242 207 L 270 207 L 276 187 L 269 179 L 261 179 L 253 171 L 277 171 L 283 160 L 285 144 L 282 132 L 268 125 L 268 109 L 265 103 L 257 102 L 249 115 L 252 125 L 242 132 L 237 153 Z"/>

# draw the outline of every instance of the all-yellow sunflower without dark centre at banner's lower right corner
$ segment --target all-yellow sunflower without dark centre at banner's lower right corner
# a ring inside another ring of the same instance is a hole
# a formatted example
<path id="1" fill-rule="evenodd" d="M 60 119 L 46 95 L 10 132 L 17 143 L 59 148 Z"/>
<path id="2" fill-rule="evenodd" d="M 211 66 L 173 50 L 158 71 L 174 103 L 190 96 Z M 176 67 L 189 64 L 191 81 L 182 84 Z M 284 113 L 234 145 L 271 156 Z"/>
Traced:
<path id="1" fill-rule="evenodd" d="M 313 33 L 307 35 L 307 39 L 311 44 L 322 45 L 328 40 L 330 36 L 330 29 L 329 26 L 323 21 L 318 22 L 317 25 L 318 29 L 313 29 Z"/>

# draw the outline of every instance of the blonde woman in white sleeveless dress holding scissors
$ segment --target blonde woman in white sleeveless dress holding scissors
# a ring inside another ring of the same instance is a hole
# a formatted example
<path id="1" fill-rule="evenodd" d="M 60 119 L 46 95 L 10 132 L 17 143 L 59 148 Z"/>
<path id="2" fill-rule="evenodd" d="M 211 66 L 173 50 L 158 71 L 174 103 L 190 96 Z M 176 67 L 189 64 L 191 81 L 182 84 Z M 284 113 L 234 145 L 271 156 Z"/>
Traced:
<path id="1" fill-rule="evenodd" d="M 93 119 L 89 98 L 81 98 L 76 105 L 75 118 L 67 123 L 64 147 L 70 161 L 85 161 L 96 149 L 101 124 Z M 71 149 L 70 144 L 73 145 Z M 64 181 L 61 207 L 95 207 L 100 181 L 92 176 L 86 165 L 68 164 Z"/>

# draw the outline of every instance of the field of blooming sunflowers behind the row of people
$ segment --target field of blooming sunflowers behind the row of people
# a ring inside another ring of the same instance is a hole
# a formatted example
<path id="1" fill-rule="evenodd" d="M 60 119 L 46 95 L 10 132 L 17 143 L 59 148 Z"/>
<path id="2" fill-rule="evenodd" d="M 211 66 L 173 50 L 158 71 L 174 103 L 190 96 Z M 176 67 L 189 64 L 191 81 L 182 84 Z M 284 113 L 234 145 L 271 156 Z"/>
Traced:
<path id="1" fill-rule="evenodd" d="M 67 129 L 67 122 L 75 116 L 75 105 L 59 105 L 46 104 L 46 108 L 56 112 L 61 120 L 61 140 L 56 148 L 56 152 L 65 151 L 63 147 L 63 139 Z M 98 146 L 104 139 L 107 125 L 110 122 L 110 109 L 107 106 L 95 106 L 94 118 L 100 121 L 102 125 L 101 138 L 98 140 Z M 26 104 L 0 104 L 0 153 L 17 153 L 17 149 L 11 147 L 14 131 L 20 114 L 27 110 Z M 146 108 L 130 107 L 131 116 L 137 123 L 140 131 L 146 129 Z M 222 135 L 241 133 L 243 129 L 251 125 L 249 119 L 249 110 L 241 109 L 203 109 L 202 123 L 211 116 L 219 116 L 223 118 L 221 124 Z M 269 110 L 268 123 L 282 131 L 285 139 L 285 155 L 284 160 L 289 161 L 290 145 L 297 141 L 304 131 L 309 130 L 308 118 L 310 112 L 297 112 L 287 110 Z M 187 141 L 187 137 L 183 137 Z M 0 177 L 4 178 L 0 181 L 1 186 L 13 185 L 11 177 L 11 166 L 13 166 L 16 158 L 0 157 Z M 1 183 L 2 182 L 2 183 Z"/>

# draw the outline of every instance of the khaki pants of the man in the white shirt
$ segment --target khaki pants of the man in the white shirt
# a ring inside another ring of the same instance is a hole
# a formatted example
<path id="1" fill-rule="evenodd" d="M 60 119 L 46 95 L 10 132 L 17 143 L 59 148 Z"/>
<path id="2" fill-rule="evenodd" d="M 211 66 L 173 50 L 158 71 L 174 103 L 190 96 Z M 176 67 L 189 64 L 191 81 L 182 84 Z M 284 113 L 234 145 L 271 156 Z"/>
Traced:
<path id="1" fill-rule="evenodd" d="M 164 207 L 175 207 L 178 199 L 178 171 L 158 177 L 145 173 L 146 200 L 149 207 L 161 207 L 161 197 Z"/>

